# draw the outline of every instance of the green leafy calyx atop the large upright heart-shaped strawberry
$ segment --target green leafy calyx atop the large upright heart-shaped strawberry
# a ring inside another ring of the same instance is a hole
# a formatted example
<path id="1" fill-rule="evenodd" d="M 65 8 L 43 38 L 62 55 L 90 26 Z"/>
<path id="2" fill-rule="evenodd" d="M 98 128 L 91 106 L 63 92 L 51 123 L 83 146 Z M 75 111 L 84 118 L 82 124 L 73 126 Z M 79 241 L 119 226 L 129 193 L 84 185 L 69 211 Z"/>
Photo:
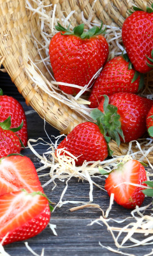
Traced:
<path id="1" fill-rule="evenodd" d="M 73 30 L 70 29 L 70 24 L 68 28 L 64 28 L 59 22 L 57 22 L 58 26 L 55 26 L 55 29 L 57 31 L 61 31 L 61 35 L 75 35 L 79 36 L 82 39 L 85 38 L 91 38 L 92 36 L 100 35 L 100 34 L 105 34 L 106 27 L 105 29 L 102 30 L 103 22 L 101 22 L 100 28 L 97 26 L 94 26 L 93 28 L 84 31 L 84 24 L 80 24 L 77 27 L 73 28 Z M 64 32 L 64 33 L 62 33 Z"/>

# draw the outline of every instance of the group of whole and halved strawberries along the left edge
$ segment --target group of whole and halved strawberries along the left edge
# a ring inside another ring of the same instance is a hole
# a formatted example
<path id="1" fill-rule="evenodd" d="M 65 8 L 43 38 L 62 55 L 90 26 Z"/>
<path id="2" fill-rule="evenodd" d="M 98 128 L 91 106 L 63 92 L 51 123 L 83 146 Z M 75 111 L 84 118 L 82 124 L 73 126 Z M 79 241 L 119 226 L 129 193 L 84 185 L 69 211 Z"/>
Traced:
<path id="1" fill-rule="evenodd" d="M 50 220 L 48 199 L 31 159 L 20 155 L 27 146 L 22 105 L 0 95 L 0 241 L 22 241 L 39 234 Z"/>

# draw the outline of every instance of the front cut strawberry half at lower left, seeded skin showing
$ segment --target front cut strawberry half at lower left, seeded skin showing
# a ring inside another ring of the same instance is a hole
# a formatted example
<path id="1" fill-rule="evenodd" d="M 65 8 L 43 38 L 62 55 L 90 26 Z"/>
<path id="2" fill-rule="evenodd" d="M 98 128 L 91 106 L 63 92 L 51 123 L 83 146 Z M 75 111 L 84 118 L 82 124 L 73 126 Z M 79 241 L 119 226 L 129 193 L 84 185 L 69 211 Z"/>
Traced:
<path id="1" fill-rule="evenodd" d="M 36 236 L 47 226 L 50 209 L 40 194 L 17 191 L 0 196 L 0 241 L 8 234 L 3 245 Z"/>

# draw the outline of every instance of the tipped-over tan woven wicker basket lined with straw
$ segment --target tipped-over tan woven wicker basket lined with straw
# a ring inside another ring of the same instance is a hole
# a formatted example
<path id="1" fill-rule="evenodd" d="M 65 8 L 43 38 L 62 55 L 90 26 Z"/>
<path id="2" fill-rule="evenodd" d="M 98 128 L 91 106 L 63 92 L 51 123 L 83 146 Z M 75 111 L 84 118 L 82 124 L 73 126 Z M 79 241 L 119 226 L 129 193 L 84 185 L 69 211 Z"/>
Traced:
<path id="1" fill-rule="evenodd" d="M 25 102 L 33 107 L 41 118 L 57 128 L 62 133 L 67 134 L 80 122 L 85 121 L 85 117 L 78 112 L 69 108 L 63 102 L 51 97 L 47 92 L 41 88 L 35 87 L 31 76 L 25 72 L 25 65 L 23 61 L 24 47 L 31 58 L 31 61 L 41 60 L 40 54 L 34 38 L 41 42 L 40 30 L 38 28 L 38 15 L 31 15 L 31 12 L 25 8 L 25 0 L 1 0 L 0 1 L 0 56 L 1 63 L 8 72 L 11 80 L 18 88 L 18 92 L 22 93 Z M 132 8 L 133 4 L 146 10 L 146 6 L 150 6 L 152 1 L 144 0 L 45 0 L 43 1 L 49 9 L 54 9 L 56 4 L 55 16 L 62 13 L 68 17 L 71 11 L 75 11 L 71 15 L 69 21 L 76 25 L 82 22 L 82 12 L 85 19 L 88 18 L 92 11 L 92 20 L 102 20 L 104 24 L 122 27 L 126 17 L 128 17 L 128 10 Z M 29 3 L 34 8 L 37 8 L 36 1 L 29 0 Z M 60 19 L 60 17 L 59 17 Z M 25 44 L 23 44 L 23 42 Z M 23 46 L 24 45 L 24 46 Z M 26 45 L 26 46 L 25 46 Z M 45 58 L 46 52 L 41 51 L 41 56 Z M 27 61 L 28 65 L 28 61 Z M 38 64 L 44 77 L 50 80 L 48 68 L 42 62 Z M 50 70 L 52 72 L 52 70 Z M 44 77 L 42 79 L 44 79 Z M 113 149 L 117 146 L 113 143 Z M 117 154 L 126 154 L 125 148 L 127 145 L 121 145 L 117 148 Z M 120 150 L 120 152 L 119 152 Z M 152 156 L 150 156 L 152 160 Z"/>

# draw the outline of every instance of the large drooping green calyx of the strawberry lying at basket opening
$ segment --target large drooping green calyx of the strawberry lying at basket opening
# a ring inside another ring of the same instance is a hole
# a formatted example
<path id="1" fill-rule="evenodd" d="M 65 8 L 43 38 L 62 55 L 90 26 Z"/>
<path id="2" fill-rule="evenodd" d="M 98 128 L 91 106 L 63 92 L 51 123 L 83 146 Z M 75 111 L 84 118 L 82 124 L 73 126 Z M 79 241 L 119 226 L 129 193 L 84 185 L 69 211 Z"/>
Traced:
<path id="1" fill-rule="evenodd" d="M 121 129 L 120 115 L 117 113 L 117 107 L 111 104 L 108 104 L 109 98 L 107 95 L 103 95 L 105 98 L 103 104 L 103 112 L 99 109 L 93 109 L 91 111 L 91 117 L 94 120 L 97 120 L 99 129 L 104 136 L 109 136 L 117 142 L 117 145 L 120 145 L 120 137 L 124 140 L 124 135 Z"/>

